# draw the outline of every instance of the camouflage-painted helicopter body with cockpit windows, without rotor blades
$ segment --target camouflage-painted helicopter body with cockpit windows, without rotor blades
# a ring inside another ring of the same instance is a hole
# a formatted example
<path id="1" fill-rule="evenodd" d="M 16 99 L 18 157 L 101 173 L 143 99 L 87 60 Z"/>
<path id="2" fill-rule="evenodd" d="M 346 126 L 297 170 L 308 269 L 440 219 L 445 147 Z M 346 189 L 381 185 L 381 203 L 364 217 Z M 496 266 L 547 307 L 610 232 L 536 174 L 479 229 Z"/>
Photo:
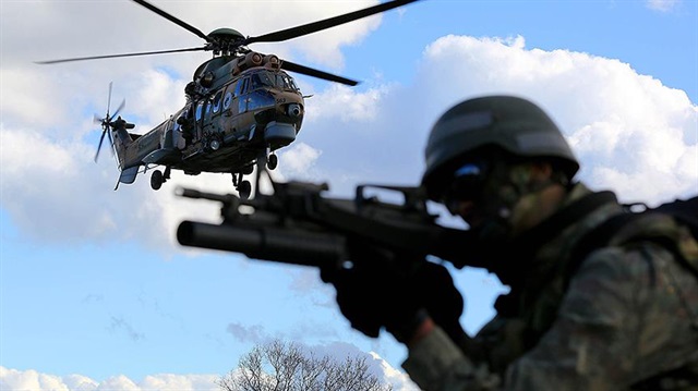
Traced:
<path id="1" fill-rule="evenodd" d="M 121 170 L 163 164 L 188 174 L 249 172 L 257 158 L 296 139 L 303 96 L 278 59 L 249 52 L 226 60 L 202 64 L 184 108 L 152 131 L 113 131 Z"/>

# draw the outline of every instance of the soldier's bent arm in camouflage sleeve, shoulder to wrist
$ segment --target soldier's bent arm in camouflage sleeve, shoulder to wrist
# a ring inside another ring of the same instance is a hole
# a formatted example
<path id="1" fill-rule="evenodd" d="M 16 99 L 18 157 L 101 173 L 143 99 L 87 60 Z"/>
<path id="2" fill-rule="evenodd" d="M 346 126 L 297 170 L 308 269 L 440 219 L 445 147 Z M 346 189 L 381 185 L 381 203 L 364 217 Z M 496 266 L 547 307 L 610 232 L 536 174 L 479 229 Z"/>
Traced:
<path id="1" fill-rule="evenodd" d="M 679 309 L 665 276 L 674 264 L 669 252 L 652 246 L 594 253 L 573 279 L 551 330 L 509 366 L 501 384 L 438 328 L 409 346 L 404 367 L 424 390 L 623 389 L 649 369 L 661 370 L 661 363 L 652 368 L 639 357 L 661 349 L 646 346 L 649 341 L 667 341 L 675 332 L 655 322 Z"/>

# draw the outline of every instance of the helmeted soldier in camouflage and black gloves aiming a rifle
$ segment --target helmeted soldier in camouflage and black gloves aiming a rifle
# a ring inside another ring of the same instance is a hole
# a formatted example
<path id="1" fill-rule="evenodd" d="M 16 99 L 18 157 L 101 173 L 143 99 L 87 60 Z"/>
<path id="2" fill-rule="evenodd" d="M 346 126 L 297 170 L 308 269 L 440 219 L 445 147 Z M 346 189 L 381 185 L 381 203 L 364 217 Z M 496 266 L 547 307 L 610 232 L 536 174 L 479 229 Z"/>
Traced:
<path id="1" fill-rule="evenodd" d="M 574 182 L 579 164 L 553 121 L 507 96 L 466 100 L 429 136 L 422 185 L 461 217 L 484 266 L 510 286 L 474 338 L 443 267 L 345 276 L 352 327 L 385 327 L 424 390 L 698 389 L 698 244 L 664 215 L 642 216 L 581 252 L 623 207 Z M 411 277 L 410 277 L 411 276 Z M 374 289 L 376 293 L 365 293 Z"/>

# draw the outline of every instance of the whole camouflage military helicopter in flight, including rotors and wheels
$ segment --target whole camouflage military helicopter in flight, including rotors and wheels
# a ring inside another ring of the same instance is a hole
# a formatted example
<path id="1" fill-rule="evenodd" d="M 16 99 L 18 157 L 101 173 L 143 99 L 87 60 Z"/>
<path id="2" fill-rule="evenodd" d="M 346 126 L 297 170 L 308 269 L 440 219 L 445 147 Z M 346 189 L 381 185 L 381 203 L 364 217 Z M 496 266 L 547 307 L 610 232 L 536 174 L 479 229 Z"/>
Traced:
<path id="1" fill-rule="evenodd" d="M 393 0 L 339 16 L 291 27 L 256 37 L 244 37 L 232 28 L 218 28 L 204 34 L 196 27 L 160 10 L 145 0 L 132 0 L 149 11 L 204 39 L 203 47 L 93 56 L 39 64 L 151 56 L 185 51 L 212 51 L 213 58 L 194 72 L 184 94 L 185 106 L 145 134 L 129 132 L 135 125 L 118 113 L 125 100 L 110 114 L 111 84 L 107 113 L 95 117 L 103 132 L 95 155 L 99 156 L 105 135 L 108 136 L 120 170 L 119 183 L 131 184 L 140 172 L 155 169 L 151 187 L 159 190 L 172 169 L 185 174 L 224 172 L 232 174 L 232 184 L 240 197 L 252 191 L 244 175 L 255 164 L 264 162 L 274 170 L 278 164 L 277 149 L 291 144 L 301 129 L 305 111 L 304 97 L 286 71 L 354 86 L 358 82 L 320 70 L 263 54 L 248 48 L 254 42 L 279 42 L 316 33 L 373 14 L 385 12 L 417 0 Z"/>

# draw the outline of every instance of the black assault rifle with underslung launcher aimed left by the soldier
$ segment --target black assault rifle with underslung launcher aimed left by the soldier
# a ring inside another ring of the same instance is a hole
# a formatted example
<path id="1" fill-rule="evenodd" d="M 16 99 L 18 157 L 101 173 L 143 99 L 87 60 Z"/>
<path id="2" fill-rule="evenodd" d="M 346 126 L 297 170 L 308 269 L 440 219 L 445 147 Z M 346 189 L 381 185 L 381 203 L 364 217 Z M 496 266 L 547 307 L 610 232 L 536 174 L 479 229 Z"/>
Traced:
<path id="1" fill-rule="evenodd" d="M 362 260 L 366 248 L 399 262 L 435 255 L 459 267 L 472 265 L 462 255 L 471 242 L 469 232 L 437 224 L 419 187 L 359 185 L 353 199 L 342 199 L 323 197 L 325 183 L 273 186 L 274 194 L 257 193 L 252 199 L 178 190 L 183 197 L 222 204 L 220 224 L 183 221 L 177 230 L 179 243 L 325 270 Z M 370 188 L 397 193 L 402 203 L 369 196 Z"/>

